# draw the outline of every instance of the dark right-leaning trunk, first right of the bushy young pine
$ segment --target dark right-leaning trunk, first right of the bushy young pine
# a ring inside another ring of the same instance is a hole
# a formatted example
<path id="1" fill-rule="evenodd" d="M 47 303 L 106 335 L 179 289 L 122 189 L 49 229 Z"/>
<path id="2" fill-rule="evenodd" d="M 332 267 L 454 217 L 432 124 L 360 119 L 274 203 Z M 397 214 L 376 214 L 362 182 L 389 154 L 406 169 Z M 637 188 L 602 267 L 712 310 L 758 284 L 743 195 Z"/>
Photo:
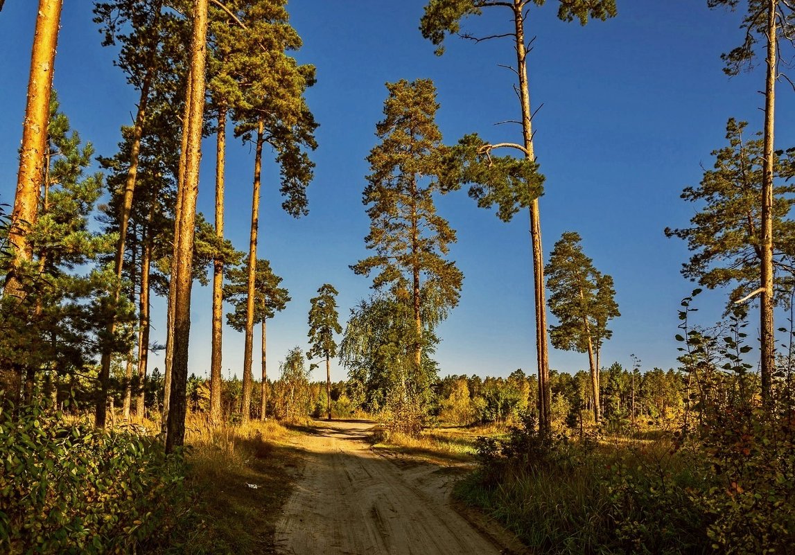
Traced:
<path id="1" fill-rule="evenodd" d="M 154 62 L 155 56 L 149 59 L 149 67 L 146 68 L 144 80 L 141 83 L 141 95 L 138 99 L 138 114 L 135 116 L 135 124 L 133 126 L 133 142 L 130 146 L 130 168 L 127 169 L 127 179 L 124 184 L 124 193 L 122 195 L 122 212 L 118 215 L 118 241 L 116 243 L 116 254 L 114 258 L 114 270 L 116 272 L 116 286 L 114 288 L 113 297 L 114 301 L 118 302 L 118 297 L 121 294 L 122 287 L 122 268 L 124 266 L 124 247 L 127 240 L 127 226 L 130 223 L 130 212 L 133 210 L 133 196 L 135 192 L 135 184 L 138 180 L 138 157 L 141 153 L 141 138 L 144 134 L 144 122 L 146 119 L 146 104 L 149 102 L 149 88 L 152 87 L 154 79 Z M 107 332 L 112 336 L 116 328 L 116 321 L 111 318 L 107 324 Z M 131 367 L 130 367 L 131 368 Z M 102 428 L 105 425 L 105 405 L 107 403 L 107 386 L 108 379 L 111 377 L 111 352 L 103 351 L 102 358 L 100 359 L 99 366 L 99 396 L 97 398 L 95 425 Z M 130 399 L 125 394 L 125 411 L 129 416 Z"/>

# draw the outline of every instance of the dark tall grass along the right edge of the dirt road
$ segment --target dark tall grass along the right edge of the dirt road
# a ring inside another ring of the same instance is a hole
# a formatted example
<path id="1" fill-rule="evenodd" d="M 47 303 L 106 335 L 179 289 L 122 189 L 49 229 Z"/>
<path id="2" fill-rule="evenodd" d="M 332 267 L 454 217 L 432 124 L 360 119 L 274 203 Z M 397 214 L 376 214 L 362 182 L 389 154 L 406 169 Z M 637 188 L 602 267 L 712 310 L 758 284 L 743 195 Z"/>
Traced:
<path id="1" fill-rule="evenodd" d="M 712 552 L 708 518 L 690 498 L 705 469 L 670 439 L 533 444 L 514 434 L 479 453 L 455 495 L 540 553 Z"/>

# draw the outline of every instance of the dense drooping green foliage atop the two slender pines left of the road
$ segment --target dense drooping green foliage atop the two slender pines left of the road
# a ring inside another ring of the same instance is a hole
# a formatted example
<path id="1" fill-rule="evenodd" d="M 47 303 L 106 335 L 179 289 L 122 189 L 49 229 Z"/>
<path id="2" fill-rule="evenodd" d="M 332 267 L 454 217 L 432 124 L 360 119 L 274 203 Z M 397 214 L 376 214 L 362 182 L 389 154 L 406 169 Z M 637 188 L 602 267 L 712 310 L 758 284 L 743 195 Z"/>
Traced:
<path id="1" fill-rule="evenodd" d="M 306 188 L 314 167 L 306 149 L 317 147 L 317 123 L 304 99 L 306 89 L 315 83 L 315 68 L 299 65 L 288 55 L 301 48 L 301 37 L 289 25 L 285 4 L 285 0 L 224 2 L 237 21 L 213 6 L 208 90 L 216 107 L 231 109 L 236 136 L 249 141 L 257 135 L 273 147 L 285 196 L 281 206 L 299 217 L 308 213 Z"/>

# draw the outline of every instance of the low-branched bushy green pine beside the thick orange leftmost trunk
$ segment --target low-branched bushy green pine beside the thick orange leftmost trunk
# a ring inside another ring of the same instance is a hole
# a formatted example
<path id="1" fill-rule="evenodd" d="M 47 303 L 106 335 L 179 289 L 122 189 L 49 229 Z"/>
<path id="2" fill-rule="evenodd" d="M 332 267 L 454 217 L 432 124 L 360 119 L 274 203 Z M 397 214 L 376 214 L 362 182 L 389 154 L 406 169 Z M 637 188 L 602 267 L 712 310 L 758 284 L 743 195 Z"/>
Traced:
<path id="1" fill-rule="evenodd" d="M 90 229 L 103 177 L 87 173 L 94 149 L 70 130 L 54 93 L 46 138 L 37 219 L 26 237 L 32 258 L 19 274 L 23 295 L 4 297 L 0 309 L 0 367 L 24 369 L 27 402 L 41 372 L 50 382 L 89 373 L 100 349 L 122 351 L 130 344 L 129 327 L 113 335 L 104 329 L 111 318 L 129 324 L 132 315 L 125 299 L 115 302 L 108 293 L 115 286 L 112 273 L 97 265 L 112 240 Z M 3 277 L 12 270 L 10 260 L 4 262 Z M 2 381 L 6 395 L 16 398 L 17 378 Z"/>

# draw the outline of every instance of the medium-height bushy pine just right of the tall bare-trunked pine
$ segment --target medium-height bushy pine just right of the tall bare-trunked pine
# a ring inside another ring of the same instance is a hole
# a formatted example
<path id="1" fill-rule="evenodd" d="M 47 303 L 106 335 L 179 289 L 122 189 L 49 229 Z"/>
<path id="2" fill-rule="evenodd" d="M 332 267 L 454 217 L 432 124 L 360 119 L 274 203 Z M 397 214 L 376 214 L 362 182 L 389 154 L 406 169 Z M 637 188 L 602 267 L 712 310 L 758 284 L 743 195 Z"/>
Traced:
<path id="1" fill-rule="evenodd" d="M 599 273 L 580 245 L 580 235 L 566 231 L 555 243 L 547 274 L 549 310 L 559 321 L 549 329 L 554 347 L 564 351 L 588 352 L 594 418 L 601 419 L 599 404 L 598 355 L 603 340 L 612 332 L 607 321 L 620 316 L 615 303 L 613 279 Z"/>

